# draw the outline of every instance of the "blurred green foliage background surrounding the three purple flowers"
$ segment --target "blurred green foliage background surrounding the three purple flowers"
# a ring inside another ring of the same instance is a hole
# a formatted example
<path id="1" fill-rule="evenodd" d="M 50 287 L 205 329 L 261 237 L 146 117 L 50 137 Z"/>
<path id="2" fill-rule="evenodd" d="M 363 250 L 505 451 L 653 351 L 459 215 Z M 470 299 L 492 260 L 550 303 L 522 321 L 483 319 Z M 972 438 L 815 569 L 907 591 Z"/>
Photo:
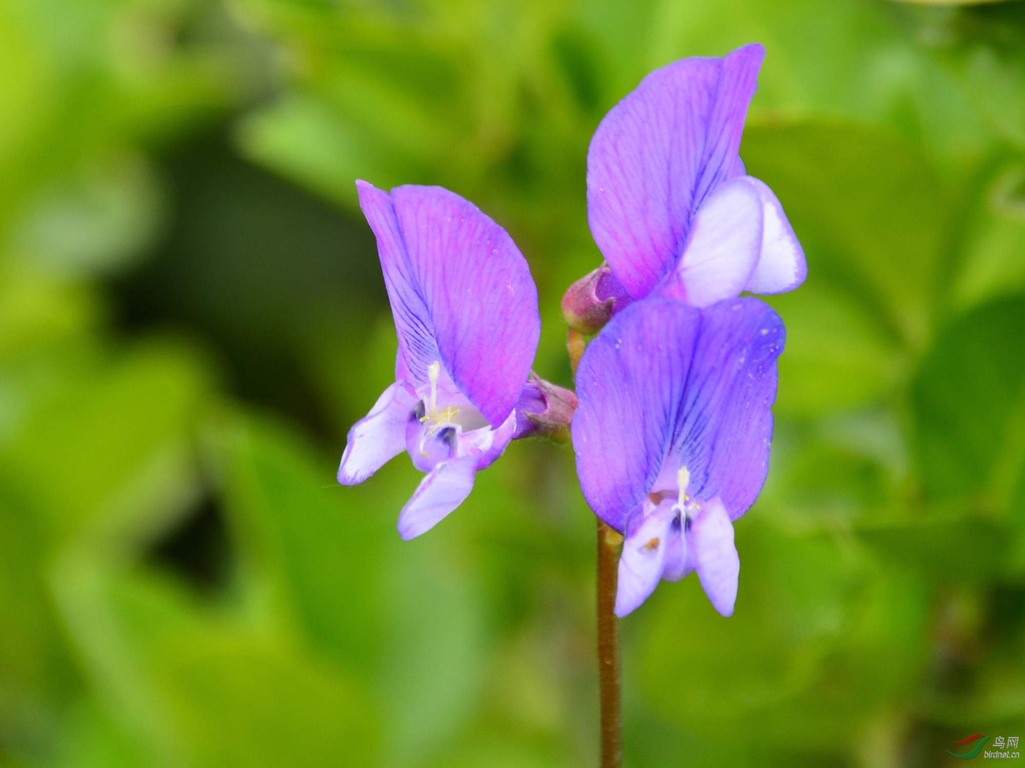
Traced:
<path id="1" fill-rule="evenodd" d="M 1025 3 L 0 0 L 0 766 L 596 765 L 571 451 L 410 543 L 405 457 L 334 484 L 396 347 L 353 182 L 502 223 L 569 385 L 591 132 L 752 40 L 810 276 L 735 615 L 622 623 L 625 765 L 1025 736 Z"/>

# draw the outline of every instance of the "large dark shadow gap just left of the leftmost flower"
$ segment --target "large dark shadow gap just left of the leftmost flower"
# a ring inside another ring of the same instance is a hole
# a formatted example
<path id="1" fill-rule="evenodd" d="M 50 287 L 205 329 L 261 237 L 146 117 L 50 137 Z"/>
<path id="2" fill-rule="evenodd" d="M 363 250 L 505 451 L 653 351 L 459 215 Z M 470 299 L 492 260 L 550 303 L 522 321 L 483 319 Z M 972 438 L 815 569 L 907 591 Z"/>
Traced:
<path id="1" fill-rule="evenodd" d="M 301 339 L 356 305 L 386 307 L 370 228 L 241 159 L 222 132 L 176 147 L 162 168 L 171 221 L 157 251 L 113 284 L 122 323 L 196 333 L 238 395 L 326 435 Z"/>

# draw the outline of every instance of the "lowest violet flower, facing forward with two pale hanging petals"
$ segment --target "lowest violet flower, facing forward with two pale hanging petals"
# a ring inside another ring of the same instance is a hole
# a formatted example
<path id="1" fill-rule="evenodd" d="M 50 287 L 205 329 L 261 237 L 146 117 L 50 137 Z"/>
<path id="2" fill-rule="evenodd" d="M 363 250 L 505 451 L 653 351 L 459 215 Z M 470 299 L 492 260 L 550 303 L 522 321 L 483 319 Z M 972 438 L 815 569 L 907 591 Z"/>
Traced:
<path id="1" fill-rule="evenodd" d="M 659 579 L 696 570 L 733 612 L 732 521 L 765 482 L 785 331 L 754 298 L 699 309 L 652 298 L 617 314 L 584 352 L 573 447 L 584 498 L 625 537 L 616 613 Z"/>

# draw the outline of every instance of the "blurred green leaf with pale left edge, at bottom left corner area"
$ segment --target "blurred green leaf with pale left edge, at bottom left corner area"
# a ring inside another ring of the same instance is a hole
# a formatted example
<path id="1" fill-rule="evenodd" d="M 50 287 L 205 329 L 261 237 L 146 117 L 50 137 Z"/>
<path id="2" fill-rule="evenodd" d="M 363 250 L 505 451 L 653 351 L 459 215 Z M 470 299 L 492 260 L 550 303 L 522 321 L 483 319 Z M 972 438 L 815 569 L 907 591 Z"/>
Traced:
<path id="1" fill-rule="evenodd" d="M 373 706 L 287 638 L 204 614 L 174 585 L 66 557 L 65 618 L 119 727 L 160 765 L 372 766 Z"/>

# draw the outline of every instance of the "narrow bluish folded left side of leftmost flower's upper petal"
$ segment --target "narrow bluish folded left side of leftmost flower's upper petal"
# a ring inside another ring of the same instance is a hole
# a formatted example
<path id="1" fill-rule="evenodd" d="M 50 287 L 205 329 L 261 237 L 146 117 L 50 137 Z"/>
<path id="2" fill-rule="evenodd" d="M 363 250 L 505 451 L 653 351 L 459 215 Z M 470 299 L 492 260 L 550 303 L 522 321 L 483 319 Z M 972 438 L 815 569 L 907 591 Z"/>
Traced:
<path id="1" fill-rule="evenodd" d="M 395 205 L 387 193 L 366 181 L 357 181 L 356 188 L 360 194 L 360 208 L 377 238 L 377 254 L 399 336 L 395 376 L 414 387 L 422 386 L 427 383 L 427 366 L 441 354 L 430 312 L 406 252 Z"/>

